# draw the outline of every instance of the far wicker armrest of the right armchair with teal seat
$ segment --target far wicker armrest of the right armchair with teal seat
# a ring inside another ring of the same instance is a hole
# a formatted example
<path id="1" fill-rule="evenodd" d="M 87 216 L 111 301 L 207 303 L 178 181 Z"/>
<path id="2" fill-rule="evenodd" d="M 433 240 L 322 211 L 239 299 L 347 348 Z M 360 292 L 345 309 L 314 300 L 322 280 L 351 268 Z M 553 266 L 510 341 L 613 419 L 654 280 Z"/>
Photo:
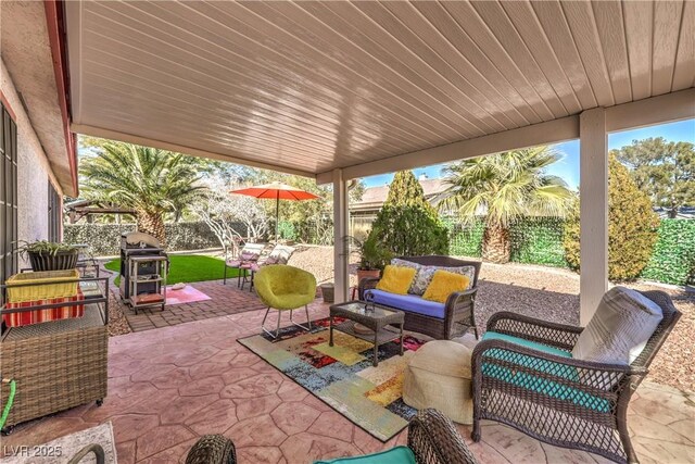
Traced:
<path id="1" fill-rule="evenodd" d="M 490 317 L 486 330 L 571 351 L 583 328 L 501 311 Z"/>

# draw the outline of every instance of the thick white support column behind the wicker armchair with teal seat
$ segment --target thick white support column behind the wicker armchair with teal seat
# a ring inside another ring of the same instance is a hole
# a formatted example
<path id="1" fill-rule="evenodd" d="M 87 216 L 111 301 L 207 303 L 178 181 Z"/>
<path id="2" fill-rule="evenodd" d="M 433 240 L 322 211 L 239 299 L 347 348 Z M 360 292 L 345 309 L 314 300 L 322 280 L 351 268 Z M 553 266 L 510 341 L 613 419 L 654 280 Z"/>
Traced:
<path id="1" fill-rule="evenodd" d="M 580 315 L 585 326 L 608 289 L 608 142 L 606 111 L 584 111 L 580 134 Z"/>

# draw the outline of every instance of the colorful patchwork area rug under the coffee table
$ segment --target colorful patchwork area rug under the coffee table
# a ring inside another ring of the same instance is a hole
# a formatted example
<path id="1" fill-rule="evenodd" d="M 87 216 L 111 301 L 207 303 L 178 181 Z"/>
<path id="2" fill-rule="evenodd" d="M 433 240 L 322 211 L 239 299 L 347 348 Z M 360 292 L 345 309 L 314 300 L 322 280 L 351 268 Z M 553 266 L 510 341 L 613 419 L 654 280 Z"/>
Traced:
<path id="1" fill-rule="evenodd" d="M 343 319 L 336 317 L 334 323 Z M 417 411 L 403 402 L 403 372 L 424 342 L 406 336 L 404 354 L 397 335 L 379 347 L 374 367 L 374 344 L 339 330 L 328 346 L 329 319 L 312 323 L 312 330 L 280 329 L 274 340 L 266 334 L 238 341 L 318 397 L 365 431 L 387 441 L 407 425 Z"/>

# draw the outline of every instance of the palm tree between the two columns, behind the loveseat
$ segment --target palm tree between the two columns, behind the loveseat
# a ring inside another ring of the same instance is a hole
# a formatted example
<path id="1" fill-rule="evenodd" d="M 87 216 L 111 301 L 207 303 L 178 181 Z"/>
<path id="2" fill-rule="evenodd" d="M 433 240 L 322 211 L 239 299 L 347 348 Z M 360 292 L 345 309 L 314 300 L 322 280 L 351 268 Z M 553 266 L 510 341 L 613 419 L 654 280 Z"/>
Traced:
<path id="1" fill-rule="evenodd" d="M 522 216 L 565 216 L 572 192 L 567 184 L 545 173 L 560 159 L 548 147 L 507 151 L 464 160 L 444 168 L 446 190 L 440 211 L 456 211 L 468 222 L 485 215 L 482 256 L 494 263 L 509 261 L 509 227 Z"/>

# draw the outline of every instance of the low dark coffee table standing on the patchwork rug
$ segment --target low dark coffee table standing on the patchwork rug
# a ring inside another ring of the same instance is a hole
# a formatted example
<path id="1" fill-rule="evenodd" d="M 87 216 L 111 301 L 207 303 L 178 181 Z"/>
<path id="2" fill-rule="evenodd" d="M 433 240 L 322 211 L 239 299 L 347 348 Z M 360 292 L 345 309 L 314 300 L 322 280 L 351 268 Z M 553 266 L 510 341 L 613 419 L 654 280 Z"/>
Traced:
<path id="1" fill-rule="evenodd" d="M 345 322 L 334 325 L 333 317 L 345 317 Z M 401 339 L 401 355 L 403 355 L 403 323 L 405 314 L 402 311 L 391 310 L 375 303 L 365 301 L 349 301 L 330 306 L 330 339 L 328 344 L 333 346 L 333 328 L 374 343 L 374 365 L 379 365 L 379 347 L 396 338 Z M 355 324 L 374 330 L 369 334 L 361 334 L 355 330 Z M 390 326 L 396 326 L 390 327 Z"/>

